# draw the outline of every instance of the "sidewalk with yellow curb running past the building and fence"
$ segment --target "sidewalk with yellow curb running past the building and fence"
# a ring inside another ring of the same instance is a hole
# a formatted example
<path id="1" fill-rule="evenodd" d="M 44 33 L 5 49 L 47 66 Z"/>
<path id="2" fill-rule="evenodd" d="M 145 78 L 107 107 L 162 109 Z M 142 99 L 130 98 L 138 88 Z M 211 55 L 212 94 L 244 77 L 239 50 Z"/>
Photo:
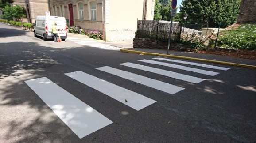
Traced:
<path id="1" fill-rule="evenodd" d="M 125 53 L 163 56 L 163 57 L 186 59 L 186 60 L 198 60 L 198 61 L 205 61 L 210 63 L 225 64 L 225 65 L 256 69 L 256 60 L 240 59 L 236 57 L 220 56 L 220 55 L 213 55 L 213 54 L 173 51 L 173 50 L 169 50 L 168 52 L 169 54 L 167 55 L 167 49 L 133 48 L 132 47 L 133 40 L 105 42 L 103 40 L 94 40 L 93 38 L 89 38 L 88 36 L 85 36 L 85 35 L 70 34 L 70 33 L 68 34 L 68 37 L 84 38 L 86 41 L 98 41 L 106 45 L 123 48 L 120 51 Z"/>

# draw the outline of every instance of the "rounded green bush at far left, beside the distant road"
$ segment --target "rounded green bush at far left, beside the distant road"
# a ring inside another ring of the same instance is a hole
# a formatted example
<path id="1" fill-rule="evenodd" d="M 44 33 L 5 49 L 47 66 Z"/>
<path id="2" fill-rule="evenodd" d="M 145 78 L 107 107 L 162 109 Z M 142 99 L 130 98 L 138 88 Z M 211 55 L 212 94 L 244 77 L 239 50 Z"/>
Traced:
<path id="1" fill-rule="evenodd" d="M 5 6 L 3 9 L 4 14 L 2 15 L 3 19 L 13 20 L 13 18 L 21 19 L 26 18 L 26 9 L 21 6 Z"/>

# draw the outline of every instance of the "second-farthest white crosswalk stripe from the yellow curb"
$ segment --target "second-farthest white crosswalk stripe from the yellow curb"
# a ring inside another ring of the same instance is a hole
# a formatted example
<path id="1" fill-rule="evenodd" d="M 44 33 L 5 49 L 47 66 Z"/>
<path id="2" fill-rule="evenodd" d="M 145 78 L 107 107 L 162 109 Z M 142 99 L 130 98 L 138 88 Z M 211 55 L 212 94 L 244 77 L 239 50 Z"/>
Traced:
<path id="1" fill-rule="evenodd" d="M 214 75 L 219 74 L 218 72 L 206 71 L 206 70 L 201 70 L 198 68 L 190 68 L 190 67 L 186 67 L 186 66 L 181 66 L 181 65 L 177 65 L 177 64 L 169 64 L 169 63 L 164 63 L 164 62 L 159 62 L 159 61 L 154 61 L 154 60 L 138 60 L 138 61 L 141 61 L 144 63 L 149 63 L 149 64 L 158 64 L 158 65 L 163 65 L 163 66 L 167 66 L 167 67 L 171 67 L 171 68 L 182 69 L 185 71 L 192 71 L 192 72 L 200 73 L 203 75 L 214 76 Z"/>

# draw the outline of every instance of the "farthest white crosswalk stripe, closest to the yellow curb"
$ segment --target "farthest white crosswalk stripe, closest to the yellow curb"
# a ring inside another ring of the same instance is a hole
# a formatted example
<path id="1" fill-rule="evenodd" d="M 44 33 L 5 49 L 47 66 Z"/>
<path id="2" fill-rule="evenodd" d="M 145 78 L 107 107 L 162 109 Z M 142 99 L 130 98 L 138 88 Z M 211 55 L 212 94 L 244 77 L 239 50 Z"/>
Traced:
<path id="1" fill-rule="evenodd" d="M 183 60 L 171 60 L 171 59 L 165 59 L 165 58 L 153 58 L 153 59 L 165 60 L 165 61 L 181 63 L 181 64 L 190 64 L 190 65 L 195 65 L 195 66 L 199 66 L 199 67 L 212 68 L 212 69 L 223 70 L 223 71 L 227 71 L 230 69 L 230 68 L 224 68 L 224 67 L 213 66 L 213 65 L 208 65 L 208 64 L 198 64 L 198 63 L 194 63 L 194 62 L 187 62 L 187 61 L 183 61 Z"/>

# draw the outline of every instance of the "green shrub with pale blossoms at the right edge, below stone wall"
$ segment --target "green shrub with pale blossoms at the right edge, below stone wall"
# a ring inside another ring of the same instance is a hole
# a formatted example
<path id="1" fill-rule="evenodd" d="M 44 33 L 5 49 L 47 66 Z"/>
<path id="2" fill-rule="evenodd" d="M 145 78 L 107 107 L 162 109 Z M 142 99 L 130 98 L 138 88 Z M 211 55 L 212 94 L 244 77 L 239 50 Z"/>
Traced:
<path id="1" fill-rule="evenodd" d="M 237 30 L 225 30 L 220 36 L 220 45 L 233 49 L 256 49 L 256 24 L 242 24 Z"/>

